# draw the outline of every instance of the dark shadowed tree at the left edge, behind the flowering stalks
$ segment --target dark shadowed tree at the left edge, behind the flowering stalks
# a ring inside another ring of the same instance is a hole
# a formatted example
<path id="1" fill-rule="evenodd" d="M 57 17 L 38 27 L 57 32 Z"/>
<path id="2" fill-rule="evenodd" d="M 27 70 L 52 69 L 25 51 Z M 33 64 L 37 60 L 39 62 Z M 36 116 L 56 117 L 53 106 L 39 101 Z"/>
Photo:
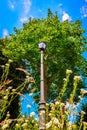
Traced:
<path id="1" fill-rule="evenodd" d="M 7 112 L 9 112 L 10 118 L 12 119 L 19 116 L 20 96 L 17 94 L 12 95 L 11 90 L 12 88 L 16 90 L 18 86 L 24 82 L 26 77 L 26 74 L 23 71 L 20 72 L 16 69 L 20 67 L 17 62 L 11 62 L 10 59 L 2 54 L 4 47 L 4 39 L 0 39 L 0 122 L 6 118 Z M 4 97 L 6 97 L 5 95 L 8 95 L 7 102 L 4 99 Z"/>

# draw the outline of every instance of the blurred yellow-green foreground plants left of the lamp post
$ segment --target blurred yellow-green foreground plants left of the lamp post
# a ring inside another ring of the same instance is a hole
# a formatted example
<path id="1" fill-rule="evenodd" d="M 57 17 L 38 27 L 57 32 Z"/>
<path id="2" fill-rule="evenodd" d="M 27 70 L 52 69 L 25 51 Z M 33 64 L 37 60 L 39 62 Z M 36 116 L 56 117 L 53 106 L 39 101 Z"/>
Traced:
<path id="1" fill-rule="evenodd" d="M 12 102 L 13 104 L 15 104 L 15 100 L 19 99 L 20 96 L 26 99 L 22 93 L 23 89 L 24 87 L 27 87 L 28 84 L 34 83 L 32 76 L 26 70 L 24 70 L 23 68 L 16 68 L 17 71 L 22 71 L 23 73 L 25 73 L 26 78 L 24 79 L 23 83 L 18 85 L 16 88 L 11 86 L 10 84 L 13 81 L 8 79 L 9 67 L 11 62 L 12 61 L 9 60 L 8 63 L 1 66 L 3 69 L 3 74 L 0 78 L 0 130 L 22 130 L 25 128 L 34 129 L 34 126 L 36 126 L 36 130 L 37 121 L 34 119 L 34 115 L 31 114 L 31 116 L 28 118 L 26 115 L 22 117 L 21 113 L 19 113 L 17 117 L 14 118 L 10 113 Z M 20 104 L 19 108 L 21 109 Z M 16 114 L 15 108 L 13 109 L 13 113 Z"/>

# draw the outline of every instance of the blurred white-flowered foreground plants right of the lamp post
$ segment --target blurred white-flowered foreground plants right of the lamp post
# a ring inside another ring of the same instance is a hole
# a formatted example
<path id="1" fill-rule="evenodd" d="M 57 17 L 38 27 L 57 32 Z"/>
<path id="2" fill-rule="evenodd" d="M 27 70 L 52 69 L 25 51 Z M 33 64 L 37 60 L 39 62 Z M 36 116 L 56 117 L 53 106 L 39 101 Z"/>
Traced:
<path id="1" fill-rule="evenodd" d="M 87 122 L 83 122 L 85 112 L 81 112 L 81 119 L 78 123 L 76 119 L 79 116 L 79 112 L 76 109 L 77 104 L 74 101 L 74 97 L 76 94 L 78 83 L 82 80 L 80 76 L 74 76 L 73 79 L 73 91 L 69 95 L 69 99 L 66 102 L 62 102 L 63 95 L 66 91 L 70 74 L 72 73 L 71 70 L 66 70 L 66 78 L 64 78 L 64 84 L 59 93 L 58 100 L 54 103 L 47 104 L 46 111 L 46 129 L 47 130 L 86 130 L 87 129 Z M 85 91 L 85 90 L 84 90 Z M 82 93 L 82 99 L 85 92 Z M 80 101 L 79 101 L 80 103 Z"/>

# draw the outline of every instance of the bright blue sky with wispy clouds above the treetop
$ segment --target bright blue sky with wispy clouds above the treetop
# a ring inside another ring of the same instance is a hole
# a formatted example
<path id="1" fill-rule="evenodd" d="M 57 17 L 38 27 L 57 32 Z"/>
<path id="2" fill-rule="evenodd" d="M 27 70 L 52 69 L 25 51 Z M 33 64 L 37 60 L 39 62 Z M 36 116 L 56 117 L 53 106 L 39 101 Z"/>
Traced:
<path id="1" fill-rule="evenodd" d="M 20 28 L 29 17 L 46 17 L 47 9 L 58 11 L 61 21 L 66 19 L 83 22 L 87 27 L 87 0 L 1 0 L 0 1 L 0 38 Z"/>

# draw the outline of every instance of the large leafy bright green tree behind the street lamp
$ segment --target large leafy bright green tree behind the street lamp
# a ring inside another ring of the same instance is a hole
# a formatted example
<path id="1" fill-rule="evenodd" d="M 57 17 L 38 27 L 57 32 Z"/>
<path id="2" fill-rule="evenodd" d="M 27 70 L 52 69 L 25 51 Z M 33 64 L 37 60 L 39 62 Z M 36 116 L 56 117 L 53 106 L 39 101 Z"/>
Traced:
<path id="1" fill-rule="evenodd" d="M 86 50 L 87 43 L 81 21 L 61 22 L 57 14 L 48 10 L 47 18 L 30 19 L 21 29 L 14 28 L 14 30 L 15 34 L 5 39 L 6 47 L 3 49 L 3 54 L 14 61 L 25 63 L 25 68 L 32 73 L 38 90 L 40 83 L 38 43 L 43 41 L 47 44 L 44 71 L 45 96 L 48 101 L 54 100 L 60 92 L 66 69 L 71 69 L 74 75 L 84 76 L 86 60 L 82 53 Z M 72 92 L 71 86 L 72 79 L 66 98 Z"/>

